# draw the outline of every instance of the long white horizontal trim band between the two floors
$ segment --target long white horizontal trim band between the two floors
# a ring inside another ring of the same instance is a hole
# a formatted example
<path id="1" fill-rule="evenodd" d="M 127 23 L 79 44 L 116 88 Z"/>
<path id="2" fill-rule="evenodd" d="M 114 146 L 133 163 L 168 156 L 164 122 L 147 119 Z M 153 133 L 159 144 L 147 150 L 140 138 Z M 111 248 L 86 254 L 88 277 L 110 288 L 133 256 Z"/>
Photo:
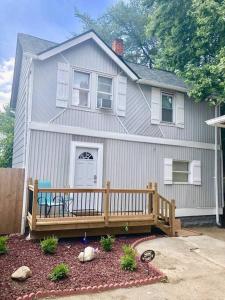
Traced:
<path id="1" fill-rule="evenodd" d="M 117 133 L 117 132 L 110 132 L 110 131 L 93 130 L 89 128 L 82 128 L 82 127 L 75 127 L 75 126 L 65 126 L 65 125 L 39 123 L 39 122 L 31 122 L 30 129 L 47 131 L 47 132 L 58 132 L 58 133 L 75 134 L 75 135 L 83 135 L 83 136 L 93 136 L 99 138 L 108 138 L 114 140 L 124 140 L 124 141 L 139 142 L 139 143 L 150 143 L 150 144 L 206 149 L 206 150 L 214 150 L 215 147 L 214 144 L 210 144 L 210 143 L 200 143 L 200 142 L 186 141 L 186 140 L 175 140 L 175 139 L 173 140 L 173 139 L 165 139 L 165 138 L 134 135 L 134 134 L 124 134 L 124 133 Z M 218 149 L 220 149 L 220 145 L 218 145 Z"/>

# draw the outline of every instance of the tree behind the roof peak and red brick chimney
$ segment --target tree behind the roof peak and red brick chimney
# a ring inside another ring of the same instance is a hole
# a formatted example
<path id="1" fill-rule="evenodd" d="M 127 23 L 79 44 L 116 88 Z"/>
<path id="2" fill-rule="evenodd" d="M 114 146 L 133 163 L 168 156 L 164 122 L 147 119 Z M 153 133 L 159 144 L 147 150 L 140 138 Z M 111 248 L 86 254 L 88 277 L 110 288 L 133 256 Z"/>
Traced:
<path id="1" fill-rule="evenodd" d="M 143 0 L 118 1 L 97 19 L 75 9 L 83 31 L 94 29 L 109 46 L 115 38 L 123 38 L 125 59 L 148 66 L 152 66 L 157 49 L 156 39 L 145 31 L 150 13 Z"/>

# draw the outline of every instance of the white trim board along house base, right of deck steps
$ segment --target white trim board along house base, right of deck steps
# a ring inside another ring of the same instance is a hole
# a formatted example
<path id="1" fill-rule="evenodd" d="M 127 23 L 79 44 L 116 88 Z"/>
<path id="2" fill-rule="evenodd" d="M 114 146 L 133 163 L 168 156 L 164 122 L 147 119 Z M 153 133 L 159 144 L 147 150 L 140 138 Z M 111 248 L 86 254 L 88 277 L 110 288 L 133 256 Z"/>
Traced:
<path id="1" fill-rule="evenodd" d="M 219 208 L 219 213 L 223 213 L 223 209 Z M 216 214 L 216 208 L 176 208 L 176 217 L 191 216 L 211 216 Z"/>

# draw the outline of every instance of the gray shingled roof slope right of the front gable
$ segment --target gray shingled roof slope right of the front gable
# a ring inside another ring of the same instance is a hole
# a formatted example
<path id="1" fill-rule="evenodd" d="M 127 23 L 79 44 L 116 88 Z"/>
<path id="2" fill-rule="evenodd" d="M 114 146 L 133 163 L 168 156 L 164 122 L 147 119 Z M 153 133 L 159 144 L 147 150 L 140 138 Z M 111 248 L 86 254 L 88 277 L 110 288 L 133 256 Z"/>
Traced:
<path id="1" fill-rule="evenodd" d="M 187 88 L 184 81 L 176 74 L 159 69 L 150 69 L 147 66 L 126 62 L 128 66 L 142 79 L 154 80 L 161 84 Z"/>

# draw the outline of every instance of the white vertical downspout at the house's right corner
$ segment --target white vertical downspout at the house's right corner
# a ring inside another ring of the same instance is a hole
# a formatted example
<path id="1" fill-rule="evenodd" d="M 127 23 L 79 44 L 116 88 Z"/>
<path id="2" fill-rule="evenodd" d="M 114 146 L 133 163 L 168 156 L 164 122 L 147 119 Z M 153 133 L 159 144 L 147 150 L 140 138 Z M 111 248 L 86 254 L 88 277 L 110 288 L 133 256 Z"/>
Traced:
<path id="1" fill-rule="evenodd" d="M 217 117 L 217 107 L 215 106 L 215 118 Z M 221 227 L 219 216 L 219 195 L 218 195 L 218 128 L 215 126 L 215 200 L 216 200 L 216 224 Z"/>

